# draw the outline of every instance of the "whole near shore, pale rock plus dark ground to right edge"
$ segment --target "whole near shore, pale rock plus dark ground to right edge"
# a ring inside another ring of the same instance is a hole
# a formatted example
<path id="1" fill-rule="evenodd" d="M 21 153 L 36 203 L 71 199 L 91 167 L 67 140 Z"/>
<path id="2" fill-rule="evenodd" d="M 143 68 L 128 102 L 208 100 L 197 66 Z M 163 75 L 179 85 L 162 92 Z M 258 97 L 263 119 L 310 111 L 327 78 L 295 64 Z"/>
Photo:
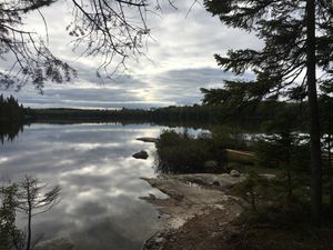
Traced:
<path id="1" fill-rule="evenodd" d="M 228 173 L 142 178 L 168 198 L 141 198 L 153 204 L 164 220 L 161 230 L 145 240 L 141 250 L 333 249 L 330 224 L 316 228 L 297 221 L 293 213 L 270 220 L 265 211 L 256 212 L 256 220 L 251 219 L 251 204 L 230 194 L 232 187 L 245 178 Z"/>

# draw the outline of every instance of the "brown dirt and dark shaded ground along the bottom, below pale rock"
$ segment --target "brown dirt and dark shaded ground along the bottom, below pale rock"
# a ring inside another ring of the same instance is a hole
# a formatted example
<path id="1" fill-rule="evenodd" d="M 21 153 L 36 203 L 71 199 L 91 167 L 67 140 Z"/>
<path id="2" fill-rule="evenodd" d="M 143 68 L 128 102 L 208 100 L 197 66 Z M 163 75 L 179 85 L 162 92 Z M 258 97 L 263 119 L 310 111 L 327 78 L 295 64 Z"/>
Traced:
<path id="1" fill-rule="evenodd" d="M 182 228 L 158 234 L 144 250 L 332 250 L 333 230 L 315 232 L 295 228 L 256 226 L 249 229 L 225 223 L 214 210 L 189 220 Z M 158 239 L 158 240 L 157 240 Z M 163 239 L 163 240 L 162 240 Z"/>

